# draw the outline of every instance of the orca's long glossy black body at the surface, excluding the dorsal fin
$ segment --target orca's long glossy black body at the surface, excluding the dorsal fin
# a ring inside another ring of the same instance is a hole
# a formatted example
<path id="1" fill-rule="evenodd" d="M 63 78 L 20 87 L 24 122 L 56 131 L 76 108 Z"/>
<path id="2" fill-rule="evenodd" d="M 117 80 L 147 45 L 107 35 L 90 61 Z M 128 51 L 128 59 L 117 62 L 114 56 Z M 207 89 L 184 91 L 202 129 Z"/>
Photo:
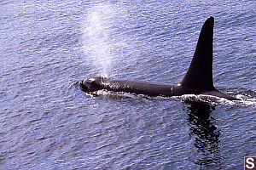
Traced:
<path id="1" fill-rule="evenodd" d="M 217 96 L 224 99 L 236 100 L 236 98 L 223 94 L 216 89 L 211 91 L 187 89 L 182 84 L 164 85 L 152 84 L 148 82 L 134 82 L 126 80 L 113 80 L 104 77 L 90 77 L 80 82 L 80 87 L 84 92 L 95 92 L 105 89 L 113 92 L 126 92 L 132 94 L 145 94 L 148 96 L 181 96 L 183 94 L 205 94 Z"/>

